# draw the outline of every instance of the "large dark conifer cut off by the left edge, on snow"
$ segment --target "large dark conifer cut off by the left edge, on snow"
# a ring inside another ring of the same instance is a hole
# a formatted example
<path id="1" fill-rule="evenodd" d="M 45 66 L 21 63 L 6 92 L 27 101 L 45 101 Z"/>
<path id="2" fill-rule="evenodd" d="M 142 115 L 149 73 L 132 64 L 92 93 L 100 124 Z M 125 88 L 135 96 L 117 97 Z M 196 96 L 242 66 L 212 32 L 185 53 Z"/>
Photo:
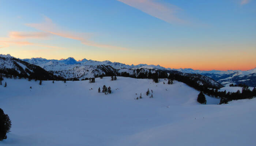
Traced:
<path id="1" fill-rule="evenodd" d="M 0 108 L 0 141 L 6 139 L 6 134 L 11 130 L 11 120 L 7 114 Z"/>

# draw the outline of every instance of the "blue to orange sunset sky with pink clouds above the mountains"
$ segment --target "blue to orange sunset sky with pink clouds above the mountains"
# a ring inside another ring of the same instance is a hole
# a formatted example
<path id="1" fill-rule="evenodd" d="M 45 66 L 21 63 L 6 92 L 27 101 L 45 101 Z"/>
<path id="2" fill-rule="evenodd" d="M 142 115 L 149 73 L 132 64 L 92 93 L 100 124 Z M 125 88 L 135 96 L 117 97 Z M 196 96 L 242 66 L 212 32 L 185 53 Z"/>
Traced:
<path id="1" fill-rule="evenodd" d="M 0 0 L 0 54 L 256 67 L 256 0 Z"/>

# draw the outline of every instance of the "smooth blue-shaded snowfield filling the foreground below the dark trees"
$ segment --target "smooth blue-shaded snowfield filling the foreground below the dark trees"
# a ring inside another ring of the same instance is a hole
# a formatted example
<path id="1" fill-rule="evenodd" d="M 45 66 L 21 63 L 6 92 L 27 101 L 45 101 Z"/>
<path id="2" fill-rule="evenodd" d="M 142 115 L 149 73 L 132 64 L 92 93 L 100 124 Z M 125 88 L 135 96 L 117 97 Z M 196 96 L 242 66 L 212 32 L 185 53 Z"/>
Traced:
<path id="1" fill-rule="evenodd" d="M 117 77 L 86 81 L 4 78 L 0 108 L 12 120 L 2 146 L 253 146 L 256 99 L 217 105 L 182 82 Z M 163 81 L 166 84 L 163 84 Z M 7 82 L 7 87 L 4 87 Z M 106 85 L 111 94 L 98 93 Z M 30 89 L 30 86 L 32 89 Z M 92 88 L 92 89 L 91 89 Z M 153 90 L 153 98 L 146 96 Z M 136 95 L 137 93 L 137 95 Z M 142 99 L 136 100 L 142 93 Z"/>

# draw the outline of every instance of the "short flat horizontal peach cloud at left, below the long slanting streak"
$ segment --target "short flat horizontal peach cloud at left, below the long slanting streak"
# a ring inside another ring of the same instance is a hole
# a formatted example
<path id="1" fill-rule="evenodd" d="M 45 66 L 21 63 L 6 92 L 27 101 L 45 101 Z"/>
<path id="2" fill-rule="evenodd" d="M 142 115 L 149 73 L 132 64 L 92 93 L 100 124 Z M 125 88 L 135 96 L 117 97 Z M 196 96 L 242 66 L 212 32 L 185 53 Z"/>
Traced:
<path id="1" fill-rule="evenodd" d="M 9 33 L 10 38 L 46 38 L 49 37 L 51 34 L 48 32 L 16 32 L 12 31 Z"/>

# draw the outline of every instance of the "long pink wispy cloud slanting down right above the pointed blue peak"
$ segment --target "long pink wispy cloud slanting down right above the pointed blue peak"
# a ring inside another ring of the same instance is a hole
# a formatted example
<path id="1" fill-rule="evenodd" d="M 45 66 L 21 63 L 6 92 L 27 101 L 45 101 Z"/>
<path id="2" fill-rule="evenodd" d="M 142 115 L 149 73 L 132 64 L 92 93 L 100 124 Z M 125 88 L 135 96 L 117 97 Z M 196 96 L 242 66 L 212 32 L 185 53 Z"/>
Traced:
<path id="1" fill-rule="evenodd" d="M 64 29 L 61 29 L 59 26 L 54 24 L 50 18 L 46 16 L 44 16 L 44 18 L 45 18 L 45 21 L 43 23 L 30 23 L 30 24 L 26 24 L 26 26 L 33 27 L 37 30 L 41 30 L 44 32 L 48 32 L 50 34 L 58 35 L 63 38 L 75 39 L 87 46 L 94 46 L 94 47 L 114 49 L 114 50 L 127 50 L 124 47 L 100 44 L 94 41 L 89 41 L 89 38 L 91 38 L 91 34 L 65 31 Z"/>

